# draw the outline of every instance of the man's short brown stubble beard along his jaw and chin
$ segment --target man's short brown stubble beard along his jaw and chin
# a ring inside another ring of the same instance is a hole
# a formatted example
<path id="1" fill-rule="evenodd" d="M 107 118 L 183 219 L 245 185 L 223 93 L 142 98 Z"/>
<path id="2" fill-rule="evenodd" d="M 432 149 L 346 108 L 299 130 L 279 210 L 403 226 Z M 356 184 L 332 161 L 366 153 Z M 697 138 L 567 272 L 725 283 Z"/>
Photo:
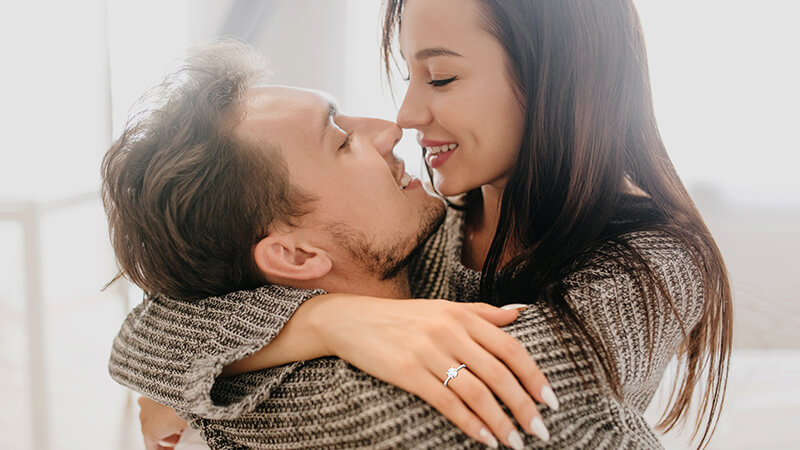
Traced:
<path id="1" fill-rule="evenodd" d="M 409 262 L 444 222 L 445 211 L 443 203 L 423 210 L 419 232 L 410 251 L 407 250 L 407 238 L 400 237 L 393 242 L 379 245 L 364 232 L 354 230 L 349 225 L 330 223 L 327 229 L 333 235 L 335 242 L 367 273 L 374 275 L 380 281 L 390 281 L 405 274 L 404 269 L 408 267 Z"/>

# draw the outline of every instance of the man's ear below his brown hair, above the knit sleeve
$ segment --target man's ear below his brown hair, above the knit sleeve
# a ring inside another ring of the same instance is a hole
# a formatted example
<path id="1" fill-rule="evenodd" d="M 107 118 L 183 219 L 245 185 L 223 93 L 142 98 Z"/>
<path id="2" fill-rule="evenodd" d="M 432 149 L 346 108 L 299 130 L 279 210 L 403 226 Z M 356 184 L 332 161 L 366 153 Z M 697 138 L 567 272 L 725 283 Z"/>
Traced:
<path id="1" fill-rule="evenodd" d="M 253 258 L 259 270 L 272 280 L 315 280 L 333 267 L 326 251 L 299 242 L 291 233 L 270 233 L 255 245 Z"/>

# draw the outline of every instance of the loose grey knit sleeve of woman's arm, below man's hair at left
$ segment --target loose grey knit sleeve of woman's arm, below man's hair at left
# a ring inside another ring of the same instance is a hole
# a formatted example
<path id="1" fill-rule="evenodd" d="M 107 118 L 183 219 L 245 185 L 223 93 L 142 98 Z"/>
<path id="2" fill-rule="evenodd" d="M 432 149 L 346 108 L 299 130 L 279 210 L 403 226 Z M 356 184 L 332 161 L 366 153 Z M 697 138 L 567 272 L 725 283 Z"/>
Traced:
<path id="1" fill-rule="evenodd" d="M 207 417 L 241 415 L 268 398 L 301 363 L 263 371 L 258 385 L 220 403 L 212 391 L 222 369 L 269 344 L 304 301 L 324 293 L 265 286 L 195 302 L 151 299 L 125 319 L 114 339 L 109 373 L 179 410 Z"/>

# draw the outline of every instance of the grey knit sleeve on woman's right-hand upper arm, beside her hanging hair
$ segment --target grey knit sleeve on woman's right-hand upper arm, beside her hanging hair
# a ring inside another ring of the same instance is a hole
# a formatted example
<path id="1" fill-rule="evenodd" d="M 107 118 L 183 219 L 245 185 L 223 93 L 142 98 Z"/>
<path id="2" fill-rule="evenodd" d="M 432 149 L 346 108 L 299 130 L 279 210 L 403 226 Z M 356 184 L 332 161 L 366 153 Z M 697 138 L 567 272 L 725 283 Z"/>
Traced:
<path id="1" fill-rule="evenodd" d="M 703 311 L 703 277 L 686 246 L 661 232 L 625 237 L 656 275 L 650 286 L 615 258 L 597 256 L 565 280 L 567 301 L 606 344 L 626 401 L 644 410 L 667 364 Z M 667 294 L 667 298 L 664 294 Z"/>

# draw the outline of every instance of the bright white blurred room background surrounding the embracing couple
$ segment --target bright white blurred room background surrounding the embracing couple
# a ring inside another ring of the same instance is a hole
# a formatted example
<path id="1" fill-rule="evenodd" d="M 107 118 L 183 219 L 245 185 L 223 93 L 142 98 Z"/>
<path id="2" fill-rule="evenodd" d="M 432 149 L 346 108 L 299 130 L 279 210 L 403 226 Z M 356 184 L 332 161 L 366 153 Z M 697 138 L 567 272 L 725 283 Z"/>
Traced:
<path id="1" fill-rule="evenodd" d="M 108 376 L 141 293 L 119 283 L 99 166 L 132 103 L 185 48 L 239 36 L 271 79 L 393 119 L 377 0 L 71 0 L 0 5 L 0 448 L 142 448 Z M 796 448 L 800 416 L 800 5 L 636 1 L 670 155 L 735 291 L 730 387 L 710 448 Z M 402 83 L 395 98 L 402 98 Z M 407 134 L 399 153 L 420 173 Z M 657 416 L 651 407 L 650 417 Z M 664 437 L 686 448 L 686 433 Z"/>

